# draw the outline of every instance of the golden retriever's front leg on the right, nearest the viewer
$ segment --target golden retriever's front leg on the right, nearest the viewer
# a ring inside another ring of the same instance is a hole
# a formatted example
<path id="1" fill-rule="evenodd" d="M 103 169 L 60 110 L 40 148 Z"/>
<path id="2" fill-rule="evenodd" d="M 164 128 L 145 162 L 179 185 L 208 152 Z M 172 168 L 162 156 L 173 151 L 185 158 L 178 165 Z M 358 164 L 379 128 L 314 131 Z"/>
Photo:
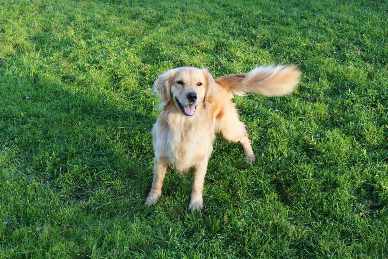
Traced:
<path id="1" fill-rule="evenodd" d="M 191 213 L 196 210 L 201 211 L 201 209 L 203 209 L 202 190 L 207 167 L 208 159 L 204 159 L 193 168 L 193 187 L 189 203 L 189 212 Z"/>

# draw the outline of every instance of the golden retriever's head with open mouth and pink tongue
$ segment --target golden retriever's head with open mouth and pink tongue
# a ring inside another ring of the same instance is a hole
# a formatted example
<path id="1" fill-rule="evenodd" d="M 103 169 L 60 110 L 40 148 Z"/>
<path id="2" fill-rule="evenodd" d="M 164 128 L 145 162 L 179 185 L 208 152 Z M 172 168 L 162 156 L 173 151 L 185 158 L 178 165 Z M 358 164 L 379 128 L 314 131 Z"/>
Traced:
<path id="1" fill-rule="evenodd" d="M 206 69 L 179 67 L 161 74 L 154 89 L 161 97 L 162 107 L 174 102 L 184 116 L 193 116 L 197 105 L 214 100 L 217 86 Z"/>

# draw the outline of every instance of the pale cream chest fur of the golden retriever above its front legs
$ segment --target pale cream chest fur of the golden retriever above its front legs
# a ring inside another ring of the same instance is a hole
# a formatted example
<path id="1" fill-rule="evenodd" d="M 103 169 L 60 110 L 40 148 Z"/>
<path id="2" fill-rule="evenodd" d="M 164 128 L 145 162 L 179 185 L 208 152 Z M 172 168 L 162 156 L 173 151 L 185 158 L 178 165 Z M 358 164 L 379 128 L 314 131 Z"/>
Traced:
<path id="1" fill-rule="evenodd" d="M 183 173 L 208 159 L 215 138 L 210 121 L 161 114 L 152 129 L 155 155 Z M 158 152 L 158 154 L 156 154 Z"/>

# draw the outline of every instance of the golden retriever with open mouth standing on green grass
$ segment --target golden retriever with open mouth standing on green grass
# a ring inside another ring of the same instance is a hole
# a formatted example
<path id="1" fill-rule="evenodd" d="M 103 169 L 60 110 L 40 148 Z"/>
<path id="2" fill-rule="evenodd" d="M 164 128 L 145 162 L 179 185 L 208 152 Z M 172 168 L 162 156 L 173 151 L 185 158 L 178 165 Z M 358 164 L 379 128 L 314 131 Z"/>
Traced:
<path id="1" fill-rule="evenodd" d="M 261 66 L 246 74 L 213 79 L 207 69 L 179 67 L 161 74 L 153 84 L 161 113 L 152 128 L 155 150 L 154 178 L 146 205 L 154 205 L 169 165 L 180 173 L 192 169 L 189 212 L 203 209 L 202 190 L 215 133 L 240 142 L 248 162 L 255 154 L 248 134 L 231 99 L 233 94 L 260 93 L 281 96 L 291 93 L 301 71 L 296 66 Z"/>

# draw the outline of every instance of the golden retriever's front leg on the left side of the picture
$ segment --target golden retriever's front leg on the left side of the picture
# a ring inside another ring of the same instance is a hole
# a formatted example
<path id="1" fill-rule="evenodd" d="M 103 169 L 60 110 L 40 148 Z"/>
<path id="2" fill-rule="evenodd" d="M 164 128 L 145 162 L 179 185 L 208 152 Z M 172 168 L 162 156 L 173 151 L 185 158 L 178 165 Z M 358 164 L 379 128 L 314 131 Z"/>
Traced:
<path id="1" fill-rule="evenodd" d="M 162 195 L 163 180 L 165 179 L 167 166 L 155 157 L 154 161 L 154 180 L 152 181 L 151 191 L 148 193 L 145 205 L 155 205 L 158 202 L 160 195 Z"/>

